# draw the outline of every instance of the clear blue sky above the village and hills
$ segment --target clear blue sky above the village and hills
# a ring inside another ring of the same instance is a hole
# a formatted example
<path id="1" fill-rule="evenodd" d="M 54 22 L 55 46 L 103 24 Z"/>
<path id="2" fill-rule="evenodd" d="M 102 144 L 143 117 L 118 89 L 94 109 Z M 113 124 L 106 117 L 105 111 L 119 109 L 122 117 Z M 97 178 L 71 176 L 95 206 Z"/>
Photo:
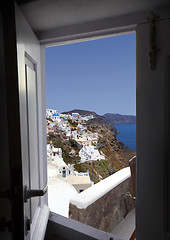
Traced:
<path id="1" fill-rule="evenodd" d="M 136 115 L 136 34 L 46 48 L 46 106 Z"/>

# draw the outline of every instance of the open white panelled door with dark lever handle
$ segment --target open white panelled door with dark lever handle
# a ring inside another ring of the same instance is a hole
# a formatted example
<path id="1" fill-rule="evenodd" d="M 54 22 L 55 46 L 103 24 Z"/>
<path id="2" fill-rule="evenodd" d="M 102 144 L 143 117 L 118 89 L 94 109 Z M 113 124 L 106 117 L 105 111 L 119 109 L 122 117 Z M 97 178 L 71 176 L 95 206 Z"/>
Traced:
<path id="1" fill-rule="evenodd" d="M 40 45 L 16 6 L 25 239 L 43 239 L 49 216 L 45 201 L 46 148 L 42 124 Z"/>

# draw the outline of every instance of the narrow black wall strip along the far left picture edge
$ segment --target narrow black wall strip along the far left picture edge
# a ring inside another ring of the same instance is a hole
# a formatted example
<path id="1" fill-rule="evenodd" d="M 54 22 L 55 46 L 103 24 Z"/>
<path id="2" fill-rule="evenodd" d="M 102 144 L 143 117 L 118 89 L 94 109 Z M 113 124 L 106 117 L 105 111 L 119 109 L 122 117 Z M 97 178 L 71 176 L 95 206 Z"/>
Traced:
<path id="1" fill-rule="evenodd" d="M 2 14 L 0 12 L 0 106 L 1 106 L 1 117 L 0 117 L 0 162 L 1 171 L 0 174 L 0 194 L 4 195 L 6 191 L 10 190 L 10 173 L 9 173 L 9 156 L 8 156 L 8 129 L 7 129 L 7 104 L 6 104 L 6 93 L 5 93 L 5 69 L 4 69 L 4 39 L 3 39 L 3 24 L 2 24 Z M 0 197 L 0 220 L 11 221 L 11 206 L 10 200 L 4 197 Z M 2 222 L 1 222 L 2 224 Z M 4 231 L 1 226 L 0 239 L 11 239 L 11 233 L 8 228 Z"/>

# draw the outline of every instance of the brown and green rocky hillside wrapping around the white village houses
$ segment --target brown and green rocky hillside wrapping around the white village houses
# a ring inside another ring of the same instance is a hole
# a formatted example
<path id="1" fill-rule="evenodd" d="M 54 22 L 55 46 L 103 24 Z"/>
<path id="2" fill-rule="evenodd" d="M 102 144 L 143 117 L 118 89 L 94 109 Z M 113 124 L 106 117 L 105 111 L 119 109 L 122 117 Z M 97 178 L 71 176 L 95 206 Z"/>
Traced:
<path id="1" fill-rule="evenodd" d="M 93 112 L 73 110 L 83 116 L 91 115 Z M 68 113 L 68 112 L 67 112 Z M 54 147 L 61 147 L 63 150 L 63 159 L 68 164 L 73 164 L 78 172 L 89 171 L 90 177 L 94 183 L 108 177 L 114 172 L 127 167 L 128 161 L 136 155 L 136 152 L 127 148 L 116 138 L 117 130 L 104 117 L 93 113 L 94 118 L 87 121 L 87 130 L 97 132 L 99 139 L 97 148 L 105 155 L 105 160 L 80 163 L 79 149 L 77 149 L 74 140 L 68 140 L 63 133 L 56 128 L 55 134 L 50 134 L 47 141 L 53 142 Z"/>

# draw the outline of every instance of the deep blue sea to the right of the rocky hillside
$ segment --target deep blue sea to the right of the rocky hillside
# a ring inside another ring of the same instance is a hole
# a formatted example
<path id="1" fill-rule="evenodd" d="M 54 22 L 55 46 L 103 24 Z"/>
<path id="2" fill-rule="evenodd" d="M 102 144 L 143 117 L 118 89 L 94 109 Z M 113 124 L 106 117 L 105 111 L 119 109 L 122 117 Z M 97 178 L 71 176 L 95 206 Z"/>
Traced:
<path id="1" fill-rule="evenodd" d="M 117 139 L 125 144 L 126 147 L 136 151 L 136 124 L 115 124 L 120 134 Z"/>

